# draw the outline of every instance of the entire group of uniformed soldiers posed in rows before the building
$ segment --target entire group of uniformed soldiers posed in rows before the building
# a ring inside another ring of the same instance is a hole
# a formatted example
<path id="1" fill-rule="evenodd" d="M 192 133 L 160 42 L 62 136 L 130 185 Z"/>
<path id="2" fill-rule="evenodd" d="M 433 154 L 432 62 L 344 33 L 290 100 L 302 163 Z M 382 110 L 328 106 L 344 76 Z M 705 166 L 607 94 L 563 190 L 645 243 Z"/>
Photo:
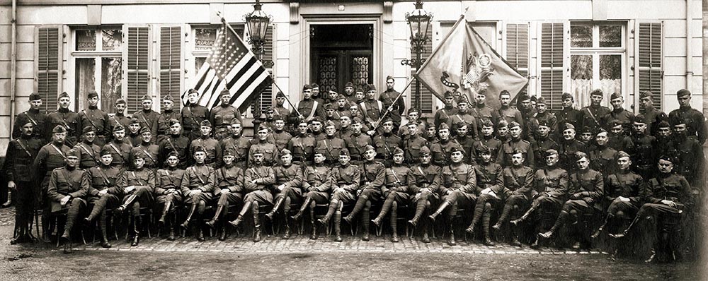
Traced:
<path id="1" fill-rule="evenodd" d="M 406 105 L 390 76 L 378 98 L 374 85 L 348 83 L 343 94 L 304 85 L 292 112 L 278 93 L 253 139 L 243 136 L 229 92 L 214 109 L 196 105 L 198 95 L 189 90 L 181 112 L 163 97 L 162 113 L 146 96 L 132 118 L 123 114 L 123 100 L 115 102 L 115 115 L 97 109 L 95 92 L 79 114 L 68 109 L 68 95 L 50 114 L 39 112 L 39 95 L 30 95 L 7 152 L 8 186 L 18 201 L 13 243 L 30 240 L 35 208 L 45 210 L 42 237 L 53 227 L 50 215 L 63 212 L 60 238 L 69 244 L 72 227 L 88 213 L 85 221 L 98 220 L 104 247 L 110 247 L 107 210 L 129 213 L 137 245 L 145 208 L 157 210 L 168 239 L 178 226 L 193 228 L 200 241 L 204 226 L 226 239 L 229 208 L 240 208 L 228 221 L 234 227 L 251 213 L 253 241 L 262 239 L 265 213 L 268 220 L 282 217 L 283 239 L 293 222 L 309 217 L 312 239 L 318 224 L 331 223 L 335 241 L 342 241 L 342 219 L 353 225 L 359 218 L 367 241 L 370 223 L 381 227 L 388 216 L 396 242 L 401 208 L 413 210 L 407 223 L 421 226 L 426 243 L 429 225 L 441 216 L 450 245 L 459 222 L 471 220 L 465 230 L 481 232 L 484 244 L 493 245 L 493 229 L 521 246 L 518 229 L 549 214 L 554 225 L 539 226 L 533 244 L 592 214 L 603 214 L 590 229 L 593 237 L 621 239 L 647 215 L 678 220 L 702 189 L 706 128 L 687 90 L 678 91 L 680 108 L 668 116 L 653 108 L 651 92 L 641 93 L 636 116 L 622 108 L 621 95 L 611 95 L 612 109 L 601 106 L 601 90 L 581 110 L 564 93 L 564 108 L 555 114 L 543 97 L 520 95 L 513 107 L 503 91 L 501 108 L 492 109 L 484 92 L 474 103 L 446 92 L 433 120 L 422 121 L 410 108 L 401 125 Z M 179 206 L 186 216 L 175 221 Z M 318 206 L 326 213 L 317 213 Z M 213 217 L 205 217 L 207 207 Z M 372 210 L 379 213 L 370 220 Z"/>

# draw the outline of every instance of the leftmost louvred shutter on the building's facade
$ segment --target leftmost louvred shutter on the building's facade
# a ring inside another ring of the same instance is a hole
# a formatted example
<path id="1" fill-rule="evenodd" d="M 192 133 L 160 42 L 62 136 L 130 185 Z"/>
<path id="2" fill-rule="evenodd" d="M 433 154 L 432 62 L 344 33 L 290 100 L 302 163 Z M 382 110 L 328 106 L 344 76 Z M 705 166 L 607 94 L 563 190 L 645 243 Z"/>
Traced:
<path id="1" fill-rule="evenodd" d="M 37 29 L 37 73 L 35 91 L 42 97 L 42 109 L 53 111 L 59 97 L 59 28 Z"/>

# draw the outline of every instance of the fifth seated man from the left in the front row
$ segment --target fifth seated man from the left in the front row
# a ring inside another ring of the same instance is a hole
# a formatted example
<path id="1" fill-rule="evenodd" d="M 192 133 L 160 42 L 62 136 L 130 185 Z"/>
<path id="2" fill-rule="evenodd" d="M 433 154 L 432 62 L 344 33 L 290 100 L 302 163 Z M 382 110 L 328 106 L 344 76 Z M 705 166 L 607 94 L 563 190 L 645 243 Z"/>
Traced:
<path id="1" fill-rule="evenodd" d="M 188 229 L 189 222 L 193 215 L 197 215 L 195 219 L 201 222 L 204 210 L 207 204 L 213 201 L 213 192 L 215 184 L 214 167 L 207 165 L 207 150 L 202 146 L 194 148 L 194 165 L 185 169 L 180 183 L 182 196 L 185 198 L 184 203 L 190 205 L 189 213 L 184 222 L 180 225 L 184 229 Z M 197 240 L 204 241 L 204 232 L 202 227 L 197 224 Z"/>

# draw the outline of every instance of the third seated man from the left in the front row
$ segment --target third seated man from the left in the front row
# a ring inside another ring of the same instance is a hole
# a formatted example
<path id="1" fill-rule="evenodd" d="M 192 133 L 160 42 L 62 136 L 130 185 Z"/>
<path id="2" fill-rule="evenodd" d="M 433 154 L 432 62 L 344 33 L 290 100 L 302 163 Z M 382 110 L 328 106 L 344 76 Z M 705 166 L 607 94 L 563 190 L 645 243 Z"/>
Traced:
<path id="1" fill-rule="evenodd" d="M 111 155 L 115 154 L 111 152 Z M 122 172 L 115 184 L 125 195 L 122 205 L 116 208 L 116 211 L 122 213 L 130 209 L 129 219 L 132 220 L 133 227 L 133 241 L 130 246 L 137 246 L 140 242 L 140 206 L 152 206 L 152 193 L 155 191 L 155 172 L 144 169 L 145 157 L 147 155 L 144 153 L 136 153 L 132 162 L 133 169 Z"/>

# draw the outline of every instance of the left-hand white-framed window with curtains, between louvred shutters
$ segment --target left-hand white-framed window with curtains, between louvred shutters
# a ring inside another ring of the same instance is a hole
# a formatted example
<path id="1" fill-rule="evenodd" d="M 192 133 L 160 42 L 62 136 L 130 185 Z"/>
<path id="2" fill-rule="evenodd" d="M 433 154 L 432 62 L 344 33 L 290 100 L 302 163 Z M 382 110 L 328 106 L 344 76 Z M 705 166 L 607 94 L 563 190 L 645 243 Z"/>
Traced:
<path id="1" fill-rule="evenodd" d="M 86 94 L 95 90 L 100 95 L 99 107 L 115 113 L 113 103 L 122 97 L 122 28 L 80 28 L 72 38 L 77 108 L 84 104 Z"/>

